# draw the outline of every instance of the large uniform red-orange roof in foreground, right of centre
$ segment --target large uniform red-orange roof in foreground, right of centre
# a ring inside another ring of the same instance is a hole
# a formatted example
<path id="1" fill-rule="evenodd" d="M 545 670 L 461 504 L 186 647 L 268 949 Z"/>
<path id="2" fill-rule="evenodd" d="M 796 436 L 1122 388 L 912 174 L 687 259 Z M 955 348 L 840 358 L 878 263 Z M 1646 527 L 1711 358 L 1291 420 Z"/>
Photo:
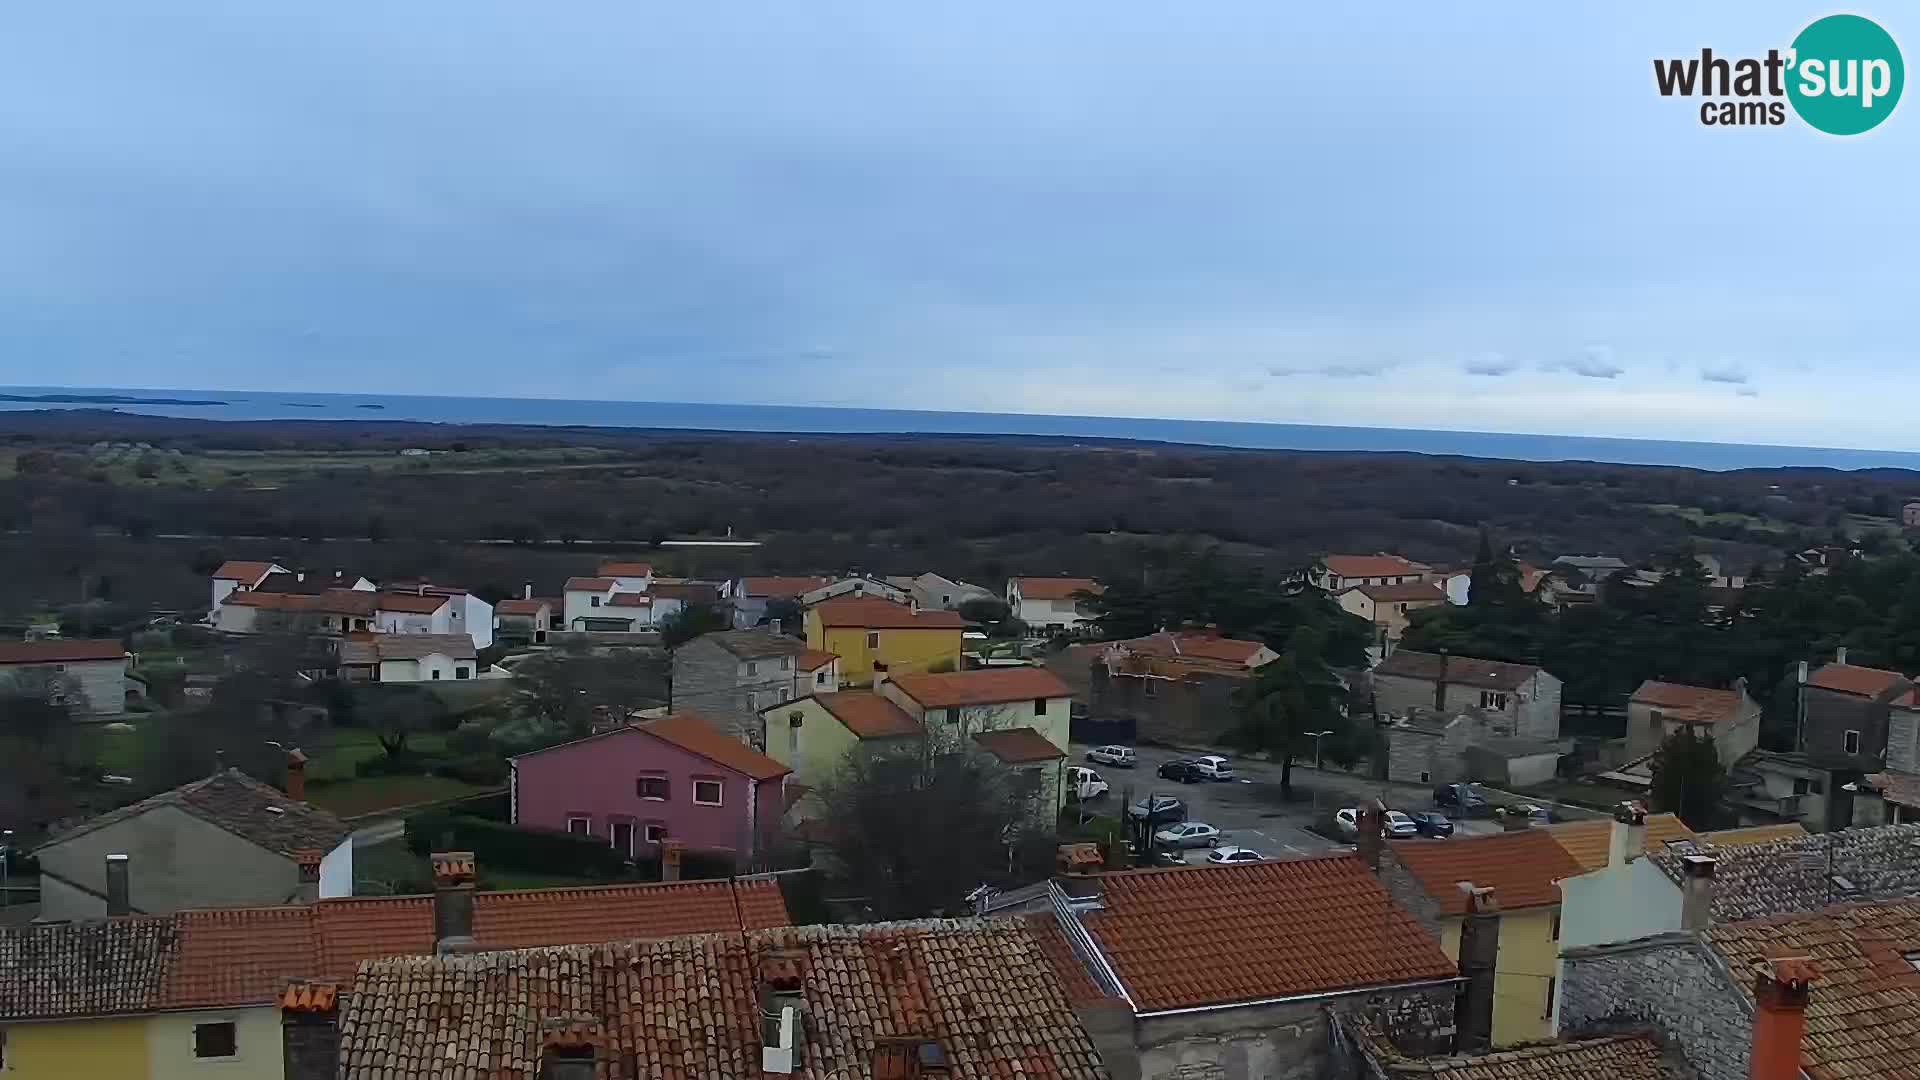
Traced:
<path id="1" fill-rule="evenodd" d="M 1457 976 L 1348 853 L 1121 871 L 1100 886 L 1104 907 L 1077 919 L 1140 1013 Z"/>

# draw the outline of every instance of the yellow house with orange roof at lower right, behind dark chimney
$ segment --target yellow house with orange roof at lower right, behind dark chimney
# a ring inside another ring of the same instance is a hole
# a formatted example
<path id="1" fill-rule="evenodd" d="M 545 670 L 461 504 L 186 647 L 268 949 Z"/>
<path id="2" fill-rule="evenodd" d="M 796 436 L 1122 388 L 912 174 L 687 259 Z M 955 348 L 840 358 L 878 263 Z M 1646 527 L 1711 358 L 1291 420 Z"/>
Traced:
<path id="1" fill-rule="evenodd" d="M 1559 967 L 1559 882 L 1580 863 L 1546 830 L 1523 828 L 1450 840 L 1396 840 L 1380 861 L 1394 899 L 1459 961 L 1467 894 L 1459 882 L 1492 888 L 1500 903 L 1494 965 L 1494 1045 L 1553 1038 L 1553 974 Z"/>

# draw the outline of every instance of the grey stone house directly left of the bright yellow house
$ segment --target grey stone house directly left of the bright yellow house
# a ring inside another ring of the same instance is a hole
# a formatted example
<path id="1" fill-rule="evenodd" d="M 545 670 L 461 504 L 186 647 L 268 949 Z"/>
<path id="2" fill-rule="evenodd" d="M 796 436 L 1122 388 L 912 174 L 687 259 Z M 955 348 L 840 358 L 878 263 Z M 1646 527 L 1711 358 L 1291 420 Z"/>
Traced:
<path id="1" fill-rule="evenodd" d="M 718 730 L 764 748 L 760 709 L 818 690 L 812 673 L 799 669 L 808 653 L 806 642 L 774 626 L 701 634 L 674 650 L 672 709 L 707 717 Z"/>

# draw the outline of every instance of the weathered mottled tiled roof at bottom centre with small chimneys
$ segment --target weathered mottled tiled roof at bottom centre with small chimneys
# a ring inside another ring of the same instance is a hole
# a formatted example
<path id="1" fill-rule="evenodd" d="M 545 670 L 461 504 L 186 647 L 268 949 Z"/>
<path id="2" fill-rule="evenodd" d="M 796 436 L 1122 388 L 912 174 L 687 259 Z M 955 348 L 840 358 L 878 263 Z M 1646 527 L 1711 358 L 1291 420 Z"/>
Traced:
<path id="1" fill-rule="evenodd" d="M 532 1080 L 541 1028 L 597 1032 L 609 1076 L 758 1078 L 762 963 L 789 961 L 806 1022 L 797 1074 L 874 1076 L 874 1045 L 925 1038 L 952 1076 L 1106 1070 L 1018 920 L 797 926 L 367 965 L 340 1022 L 340 1076 Z M 630 1065 L 628 1065 L 630 1063 Z"/>

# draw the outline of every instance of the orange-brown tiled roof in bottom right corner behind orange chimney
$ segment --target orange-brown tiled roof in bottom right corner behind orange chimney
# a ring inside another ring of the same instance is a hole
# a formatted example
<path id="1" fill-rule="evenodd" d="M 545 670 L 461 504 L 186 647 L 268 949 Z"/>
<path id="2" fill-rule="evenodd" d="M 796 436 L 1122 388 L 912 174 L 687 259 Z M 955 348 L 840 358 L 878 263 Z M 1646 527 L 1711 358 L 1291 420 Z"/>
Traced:
<path id="1" fill-rule="evenodd" d="M 1812 957 L 1801 1068 L 1812 1080 L 1920 1076 L 1920 901 L 1859 903 L 1715 926 L 1707 940 L 1740 990 L 1768 949 Z"/>

